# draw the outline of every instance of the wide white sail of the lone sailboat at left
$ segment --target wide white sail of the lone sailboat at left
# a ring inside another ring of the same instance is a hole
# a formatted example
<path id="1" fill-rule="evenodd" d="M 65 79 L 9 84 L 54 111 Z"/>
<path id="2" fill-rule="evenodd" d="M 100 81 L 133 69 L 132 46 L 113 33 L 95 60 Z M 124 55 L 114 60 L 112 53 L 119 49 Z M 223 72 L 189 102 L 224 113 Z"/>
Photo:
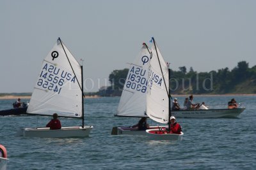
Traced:
<path id="1" fill-rule="evenodd" d="M 58 113 L 61 117 L 83 116 L 81 66 L 61 43 L 58 39 L 43 61 L 27 113 Z"/>

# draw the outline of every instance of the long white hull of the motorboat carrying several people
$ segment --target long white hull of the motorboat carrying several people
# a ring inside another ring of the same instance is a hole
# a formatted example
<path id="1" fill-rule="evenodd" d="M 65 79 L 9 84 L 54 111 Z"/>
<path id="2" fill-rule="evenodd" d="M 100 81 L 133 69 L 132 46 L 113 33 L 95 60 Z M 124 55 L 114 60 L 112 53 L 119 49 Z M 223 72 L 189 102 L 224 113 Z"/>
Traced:
<path id="1" fill-rule="evenodd" d="M 245 110 L 237 109 L 216 109 L 216 110 L 179 110 L 172 111 L 176 118 L 236 118 Z"/>

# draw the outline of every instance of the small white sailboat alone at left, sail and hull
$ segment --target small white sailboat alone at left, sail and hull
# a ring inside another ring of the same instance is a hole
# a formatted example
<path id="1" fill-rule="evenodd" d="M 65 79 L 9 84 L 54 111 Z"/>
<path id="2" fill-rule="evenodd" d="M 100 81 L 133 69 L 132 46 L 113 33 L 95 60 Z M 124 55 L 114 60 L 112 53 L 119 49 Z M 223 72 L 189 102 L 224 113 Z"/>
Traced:
<path id="1" fill-rule="evenodd" d="M 82 126 L 22 128 L 16 136 L 39 138 L 86 137 L 93 126 L 84 125 L 83 66 L 80 66 L 60 38 L 45 57 L 27 113 L 32 115 L 81 118 Z"/>

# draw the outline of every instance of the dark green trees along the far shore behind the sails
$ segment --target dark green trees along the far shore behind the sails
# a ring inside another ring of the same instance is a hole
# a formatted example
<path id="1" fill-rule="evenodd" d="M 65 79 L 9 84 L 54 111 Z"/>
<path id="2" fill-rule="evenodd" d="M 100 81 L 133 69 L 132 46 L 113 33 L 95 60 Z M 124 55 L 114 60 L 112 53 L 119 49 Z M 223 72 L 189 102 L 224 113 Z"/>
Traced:
<path id="1" fill-rule="evenodd" d="M 120 96 L 129 69 L 114 70 L 109 74 L 111 86 L 104 87 L 96 94 L 99 96 Z M 193 67 L 179 67 L 170 70 L 170 90 L 172 94 L 256 94 L 256 66 L 249 67 L 241 61 L 229 70 L 196 72 Z"/>

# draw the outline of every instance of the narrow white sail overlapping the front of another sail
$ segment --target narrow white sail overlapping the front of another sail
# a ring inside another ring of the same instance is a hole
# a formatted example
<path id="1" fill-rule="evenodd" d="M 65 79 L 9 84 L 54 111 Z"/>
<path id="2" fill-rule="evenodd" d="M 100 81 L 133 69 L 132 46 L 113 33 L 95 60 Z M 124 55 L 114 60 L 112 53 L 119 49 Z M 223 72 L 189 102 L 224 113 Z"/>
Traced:
<path id="1" fill-rule="evenodd" d="M 154 41 L 154 39 L 152 39 Z M 152 45 L 152 58 L 148 70 L 147 115 L 156 122 L 167 124 L 169 116 L 169 72 L 159 48 Z M 158 55 L 158 57 L 157 57 Z M 163 74 L 161 72 L 163 71 Z"/>

